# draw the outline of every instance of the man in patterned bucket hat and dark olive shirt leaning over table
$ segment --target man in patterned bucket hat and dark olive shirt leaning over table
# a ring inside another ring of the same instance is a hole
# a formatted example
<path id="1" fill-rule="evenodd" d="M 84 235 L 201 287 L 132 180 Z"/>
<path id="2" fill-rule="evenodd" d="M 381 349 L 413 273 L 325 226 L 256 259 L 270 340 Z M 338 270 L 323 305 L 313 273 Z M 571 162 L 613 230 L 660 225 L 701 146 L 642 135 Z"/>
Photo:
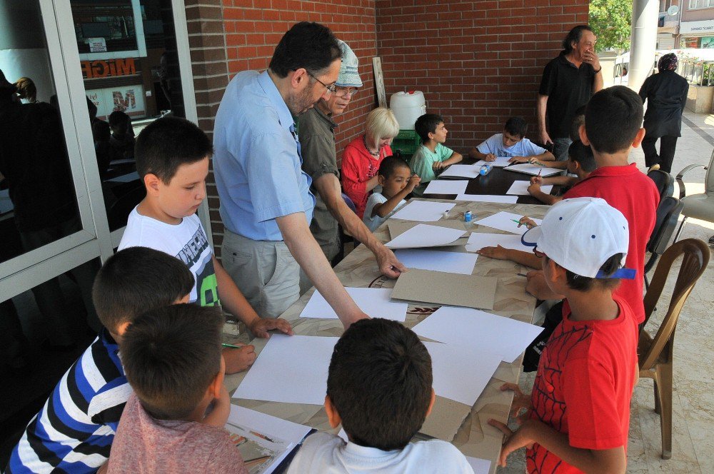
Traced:
<path id="1" fill-rule="evenodd" d="M 393 270 L 402 271 L 403 265 L 394 253 L 373 236 L 342 198 L 335 151 L 334 131 L 337 123 L 333 121 L 333 117 L 345 111 L 362 86 L 362 80 L 357 69 L 357 56 L 344 41 L 338 40 L 338 44 L 342 53 L 342 64 L 335 83 L 335 92 L 329 99 L 320 99 L 313 109 L 302 114 L 298 126 L 303 157 L 302 169 L 311 176 L 310 191 L 316 195 L 310 231 L 328 261 L 335 258 L 339 251 L 337 226 L 340 223 L 351 236 L 364 243 L 374 253 L 379 268 L 391 266 Z M 301 293 L 311 286 L 310 280 L 301 272 Z"/>

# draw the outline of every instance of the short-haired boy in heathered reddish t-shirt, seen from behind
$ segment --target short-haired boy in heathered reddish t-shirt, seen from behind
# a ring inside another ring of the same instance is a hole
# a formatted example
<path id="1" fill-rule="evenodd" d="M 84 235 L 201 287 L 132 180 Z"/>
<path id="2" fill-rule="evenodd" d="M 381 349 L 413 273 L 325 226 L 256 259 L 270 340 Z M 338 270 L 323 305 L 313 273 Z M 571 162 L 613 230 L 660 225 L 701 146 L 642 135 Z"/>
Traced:
<path id="1" fill-rule="evenodd" d="M 124 334 L 121 360 L 134 393 L 126 401 L 106 473 L 239 473 L 245 463 L 223 426 L 223 315 L 180 304 L 154 309 Z"/>

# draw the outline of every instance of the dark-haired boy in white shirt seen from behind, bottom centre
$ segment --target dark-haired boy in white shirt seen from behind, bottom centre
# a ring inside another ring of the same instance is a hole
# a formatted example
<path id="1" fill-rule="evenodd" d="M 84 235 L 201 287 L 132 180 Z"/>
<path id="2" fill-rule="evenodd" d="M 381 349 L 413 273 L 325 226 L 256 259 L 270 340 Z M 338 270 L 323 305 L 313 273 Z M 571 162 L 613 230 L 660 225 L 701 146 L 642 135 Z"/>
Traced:
<path id="1" fill-rule="evenodd" d="M 442 440 L 409 443 L 434 404 L 431 356 L 396 321 L 357 321 L 337 341 L 327 376 L 325 410 L 348 442 L 315 433 L 303 442 L 288 474 L 473 474 Z"/>

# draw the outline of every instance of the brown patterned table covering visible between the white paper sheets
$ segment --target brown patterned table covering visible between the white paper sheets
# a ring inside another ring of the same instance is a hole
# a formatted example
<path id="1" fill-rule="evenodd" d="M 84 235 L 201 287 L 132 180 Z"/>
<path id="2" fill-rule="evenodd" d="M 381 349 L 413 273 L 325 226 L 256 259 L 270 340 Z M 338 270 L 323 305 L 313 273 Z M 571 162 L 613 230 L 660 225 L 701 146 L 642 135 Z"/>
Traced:
<path id="1" fill-rule="evenodd" d="M 436 200 L 451 202 L 447 200 Z M 450 212 L 448 221 L 450 226 L 458 227 L 457 222 L 463 223 L 463 212 L 471 211 L 473 220 L 491 216 L 500 211 L 508 211 L 521 215 L 543 218 L 548 206 L 538 206 L 533 204 L 504 204 L 504 203 L 478 203 L 456 201 L 456 206 Z M 389 241 L 391 236 L 388 232 L 388 220 L 376 231 L 376 236 L 382 242 Z M 402 221 L 408 222 L 408 221 Z M 443 223 L 443 218 L 433 225 Z M 414 223 L 416 225 L 416 223 Z M 405 224 L 406 226 L 406 224 Z M 463 223 L 463 228 L 469 232 L 505 233 L 493 228 L 478 226 L 472 223 Z M 401 230 L 401 229 L 400 229 Z M 406 230 L 406 229 L 405 229 Z M 463 246 L 442 247 L 448 251 L 465 251 Z M 393 288 L 394 281 L 380 275 L 376 260 L 373 254 L 365 246 L 358 246 L 346 258 L 335 267 L 336 274 L 344 286 L 371 287 L 371 288 Z M 515 318 L 518 321 L 530 323 L 533 319 L 535 309 L 535 298 L 526 293 L 526 278 L 518 276 L 517 273 L 524 273 L 527 268 L 511 261 L 495 260 L 493 258 L 479 257 L 473 269 L 473 275 L 489 276 L 498 278 L 496 287 L 496 297 L 493 306 L 494 314 L 507 318 Z M 342 323 L 339 320 L 299 318 L 299 315 L 307 304 L 314 288 L 301 296 L 288 310 L 283 313 L 282 318 L 291 321 L 296 334 L 303 336 L 340 336 L 343 332 Z M 428 315 L 438 309 L 438 305 L 428 303 L 410 303 L 408 307 L 405 326 L 411 328 L 423 321 Z M 246 335 L 239 338 L 243 342 L 247 341 Z M 252 343 L 256 346 L 256 353 L 260 353 L 265 347 L 266 340 L 255 339 Z M 296 354 L 296 357 L 299 357 Z M 501 365 L 493 374 L 493 378 L 483 390 L 481 396 L 476 400 L 473 407 L 448 400 L 437 396 L 436 403 L 431 415 L 426 419 L 421 433 L 431 435 L 435 438 L 451 441 L 462 453 L 476 458 L 491 460 L 491 472 L 495 472 L 498 454 L 501 451 L 501 432 L 488 425 L 488 418 L 506 420 L 511 409 L 513 395 L 509 392 L 501 392 L 499 388 L 503 383 L 518 383 L 521 374 L 521 363 L 523 357 L 517 358 L 513 363 L 501 362 Z M 245 373 L 237 373 L 226 376 L 226 387 L 228 391 L 233 391 L 240 385 Z M 280 373 L 275 374 L 280 377 Z M 327 421 L 325 411 L 318 405 L 303 405 L 292 403 L 276 403 L 262 400 L 233 399 L 232 403 L 246 408 L 261 411 L 269 415 L 277 416 L 294 423 L 302 423 L 312 426 L 318 430 L 332 430 Z"/>

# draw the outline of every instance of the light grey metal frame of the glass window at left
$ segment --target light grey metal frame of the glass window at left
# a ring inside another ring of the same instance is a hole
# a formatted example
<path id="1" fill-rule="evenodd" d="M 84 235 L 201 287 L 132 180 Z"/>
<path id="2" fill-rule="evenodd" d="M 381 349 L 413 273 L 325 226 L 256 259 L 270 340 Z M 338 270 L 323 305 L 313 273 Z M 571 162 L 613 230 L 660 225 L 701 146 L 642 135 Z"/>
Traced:
<path id="1" fill-rule="evenodd" d="M 188 47 L 183 0 L 171 0 L 171 7 L 186 119 L 197 122 L 191 51 Z M 0 301 L 12 298 L 94 258 L 99 257 L 101 261 L 106 261 L 114 253 L 114 248 L 124 233 L 124 228 L 111 233 L 109 231 L 94 140 L 89 123 L 84 120 L 88 111 L 84 81 L 78 66 L 80 56 L 74 35 L 71 5 L 69 0 L 39 0 L 39 8 L 56 94 L 63 111 L 61 120 L 82 230 L 0 263 Z M 198 209 L 198 216 L 212 245 L 207 200 L 203 201 Z"/>

